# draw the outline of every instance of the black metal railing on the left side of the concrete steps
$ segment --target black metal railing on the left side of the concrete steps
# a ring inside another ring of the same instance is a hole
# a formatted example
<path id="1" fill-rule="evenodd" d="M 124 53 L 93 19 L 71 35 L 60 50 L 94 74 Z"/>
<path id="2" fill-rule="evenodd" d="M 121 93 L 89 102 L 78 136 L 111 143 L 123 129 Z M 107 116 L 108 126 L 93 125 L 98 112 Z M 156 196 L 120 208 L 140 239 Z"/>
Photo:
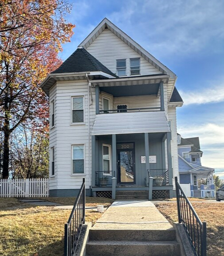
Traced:
<path id="1" fill-rule="evenodd" d="M 77 247 L 82 225 L 85 223 L 85 178 L 68 222 L 65 224 L 64 256 L 73 256 Z"/>

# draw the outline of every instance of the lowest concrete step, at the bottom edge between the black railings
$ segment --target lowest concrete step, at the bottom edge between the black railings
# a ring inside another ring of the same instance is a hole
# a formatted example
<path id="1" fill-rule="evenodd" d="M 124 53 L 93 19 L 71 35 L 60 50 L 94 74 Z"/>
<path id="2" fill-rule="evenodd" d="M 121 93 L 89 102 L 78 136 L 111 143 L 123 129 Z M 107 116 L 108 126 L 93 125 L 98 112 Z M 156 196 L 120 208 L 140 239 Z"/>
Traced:
<path id="1" fill-rule="evenodd" d="M 89 241 L 86 255 L 91 256 L 179 256 L 176 241 Z"/>

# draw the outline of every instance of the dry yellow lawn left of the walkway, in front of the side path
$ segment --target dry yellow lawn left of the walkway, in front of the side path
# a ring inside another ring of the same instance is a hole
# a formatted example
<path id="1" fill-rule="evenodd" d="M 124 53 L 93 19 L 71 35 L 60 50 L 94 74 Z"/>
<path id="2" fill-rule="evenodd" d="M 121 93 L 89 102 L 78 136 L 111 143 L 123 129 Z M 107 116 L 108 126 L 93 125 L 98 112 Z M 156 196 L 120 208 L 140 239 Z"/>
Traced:
<path id="1" fill-rule="evenodd" d="M 51 206 L 31 206 L 15 198 L 0 198 L 0 255 L 62 256 L 64 224 L 70 212 Z M 87 211 L 86 221 L 95 223 L 101 215 Z"/>

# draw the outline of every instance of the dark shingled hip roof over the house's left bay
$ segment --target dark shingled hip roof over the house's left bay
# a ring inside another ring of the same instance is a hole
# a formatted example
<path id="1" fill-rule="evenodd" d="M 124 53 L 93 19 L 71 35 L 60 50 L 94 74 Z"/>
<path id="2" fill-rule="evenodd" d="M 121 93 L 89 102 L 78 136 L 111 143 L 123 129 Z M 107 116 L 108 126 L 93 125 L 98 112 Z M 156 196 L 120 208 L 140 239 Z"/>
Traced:
<path id="1" fill-rule="evenodd" d="M 77 48 L 65 62 L 59 66 L 58 69 L 54 70 L 51 73 L 73 73 L 73 72 L 88 72 L 88 71 L 102 71 L 109 75 L 112 75 L 115 78 L 118 76 L 112 73 L 106 66 L 99 62 L 92 54 L 83 48 Z"/>

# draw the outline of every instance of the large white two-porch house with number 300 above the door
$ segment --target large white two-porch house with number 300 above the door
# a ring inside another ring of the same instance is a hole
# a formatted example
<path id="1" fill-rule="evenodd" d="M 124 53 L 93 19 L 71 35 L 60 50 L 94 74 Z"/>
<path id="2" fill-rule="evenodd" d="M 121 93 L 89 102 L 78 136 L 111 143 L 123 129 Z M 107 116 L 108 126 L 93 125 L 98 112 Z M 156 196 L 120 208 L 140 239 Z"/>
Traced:
<path id="1" fill-rule="evenodd" d="M 42 82 L 50 97 L 50 196 L 148 190 L 172 197 L 178 176 L 176 75 L 111 23 L 102 22 Z"/>

